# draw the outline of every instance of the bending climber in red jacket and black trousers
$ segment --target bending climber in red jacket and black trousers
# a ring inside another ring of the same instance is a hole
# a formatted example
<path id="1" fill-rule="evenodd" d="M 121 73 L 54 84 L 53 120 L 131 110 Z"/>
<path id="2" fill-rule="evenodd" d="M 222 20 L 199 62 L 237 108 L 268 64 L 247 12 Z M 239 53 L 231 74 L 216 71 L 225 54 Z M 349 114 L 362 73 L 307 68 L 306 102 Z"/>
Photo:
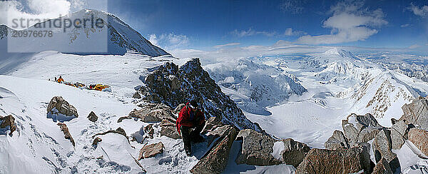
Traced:
<path id="1" fill-rule="evenodd" d="M 200 132 L 205 126 L 205 116 L 196 101 L 191 100 L 181 109 L 176 124 L 177 131 L 183 138 L 185 154 L 190 156 L 192 154 L 190 141 L 195 143 L 204 141 Z"/>

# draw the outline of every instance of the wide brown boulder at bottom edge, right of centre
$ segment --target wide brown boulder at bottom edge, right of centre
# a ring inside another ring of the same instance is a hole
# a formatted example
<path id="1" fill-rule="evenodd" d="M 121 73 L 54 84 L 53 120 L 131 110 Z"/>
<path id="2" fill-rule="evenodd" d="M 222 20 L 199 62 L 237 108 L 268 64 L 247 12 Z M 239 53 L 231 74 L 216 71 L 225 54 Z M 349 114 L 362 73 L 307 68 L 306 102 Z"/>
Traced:
<path id="1" fill-rule="evenodd" d="M 297 167 L 296 173 L 364 173 L 372 172 L 370 145 L 350 149 L 328 150 L 314 148 Z"/>

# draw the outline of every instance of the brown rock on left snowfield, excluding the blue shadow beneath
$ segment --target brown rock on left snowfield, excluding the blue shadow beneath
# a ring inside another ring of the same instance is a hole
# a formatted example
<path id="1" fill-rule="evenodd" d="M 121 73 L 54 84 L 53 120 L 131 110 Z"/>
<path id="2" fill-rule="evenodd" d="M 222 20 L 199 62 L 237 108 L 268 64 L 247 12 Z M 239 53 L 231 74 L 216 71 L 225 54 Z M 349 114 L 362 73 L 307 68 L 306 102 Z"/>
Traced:
<path id="1" fill-rule="evenodd" d="M 46 111 L 51 114 L 57 114 L 55 111 L 52 111 L 54 108 L 67 117 L 78 117 L 76 108 L 65 101 L 61 96 L 55 96 L 51 99 L 51 102 L 48 105 Z"/>

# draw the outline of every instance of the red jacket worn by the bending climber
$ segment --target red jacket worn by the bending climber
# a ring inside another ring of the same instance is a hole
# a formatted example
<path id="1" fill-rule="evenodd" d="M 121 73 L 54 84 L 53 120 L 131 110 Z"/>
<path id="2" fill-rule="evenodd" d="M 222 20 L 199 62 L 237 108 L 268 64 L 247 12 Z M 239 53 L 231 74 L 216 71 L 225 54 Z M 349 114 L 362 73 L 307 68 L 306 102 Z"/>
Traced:
<path id="1" fill-rule="evenodd" d="M 188 126 L 188 127 L 195 127 L 198 125 L 201 125 L 205 123 L 205 116 L 203 115 L 203 112 L 198 110 L 196 111 L 193 116 L 193 119 L 190 121 L 190 106 L 189 103 L 187 103 L 178 113 L 178 119 L 177 119 L 177 131 L 180 133 L 180 126 Z"/>

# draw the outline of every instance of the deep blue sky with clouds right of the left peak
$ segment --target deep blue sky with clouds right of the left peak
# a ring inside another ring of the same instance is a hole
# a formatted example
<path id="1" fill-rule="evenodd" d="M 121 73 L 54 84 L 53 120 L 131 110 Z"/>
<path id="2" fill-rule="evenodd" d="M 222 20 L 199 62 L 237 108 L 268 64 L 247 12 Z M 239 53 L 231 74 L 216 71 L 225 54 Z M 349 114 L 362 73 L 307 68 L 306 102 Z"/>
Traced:
<path id="1" fill-rule="evenodd" d="M 167 49 L 270 46 L 279 40 L 376 48 L 428 44 L 428 1 L 111 0 L 108 11 Z"/>

